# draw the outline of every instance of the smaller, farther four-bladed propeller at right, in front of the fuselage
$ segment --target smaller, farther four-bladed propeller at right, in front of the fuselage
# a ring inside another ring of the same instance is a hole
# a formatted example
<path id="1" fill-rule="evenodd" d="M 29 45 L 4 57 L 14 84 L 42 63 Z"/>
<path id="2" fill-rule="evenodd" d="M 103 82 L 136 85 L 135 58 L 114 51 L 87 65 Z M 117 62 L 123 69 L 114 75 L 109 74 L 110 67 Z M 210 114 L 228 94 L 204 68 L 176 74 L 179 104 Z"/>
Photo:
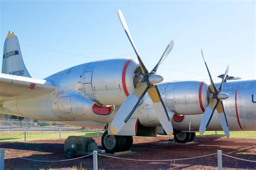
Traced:
<path id="1" fill-rule="evenodd" d="M 203 59 L 205 62 L 203 49 L 201 49 L 201 53 L 202 53 L 202 56 L 203 56 Z M 227 72 L 228 72 L 229 66 L 227 66 L 225 74 L 220 77 L 222 79 L 222 81 L 219 85 L 218 90 L 217 90 L 215 84 L 213 83 L 212 76 L 211 76 L 211 73 L 208 69 L 206 62 L 205 62 L 205 66 L 206 66 L 206 69 L 207 69 L 207 72 L 209 74 L 210 81 L 211 81 L 211 85 L 210 85 L 211 92 L 208 94 L 210 101 L 209 101 L 208 107 L 206 107 L 206 109 L 205 109 L 204 116 L 203 116 L 203 119 L 202 119 L 200 127 L 199 127 L 199 133 L 200 133 L 200 135 L 204 134 L 206 128 L 210 124 L 210 121 L 212 119 L 214 111 L 217 110 L 218 119 L 220 121 L 221 127 L 223 128 L 223 131 L 224 131 L 226 137 L 229 138 L 230 131 L 228 130 L 227 117 L 226 117 L 226 113 L 224 111 L 224 106 L 223 106 L 223 101 L 222 101 L 222 100 L 227 99 L 229 96 L 227 93 L 221 93 L 221 89 L 223 88 L 224 81 L 226 80 L 226 77 L 227 77 Z"/>

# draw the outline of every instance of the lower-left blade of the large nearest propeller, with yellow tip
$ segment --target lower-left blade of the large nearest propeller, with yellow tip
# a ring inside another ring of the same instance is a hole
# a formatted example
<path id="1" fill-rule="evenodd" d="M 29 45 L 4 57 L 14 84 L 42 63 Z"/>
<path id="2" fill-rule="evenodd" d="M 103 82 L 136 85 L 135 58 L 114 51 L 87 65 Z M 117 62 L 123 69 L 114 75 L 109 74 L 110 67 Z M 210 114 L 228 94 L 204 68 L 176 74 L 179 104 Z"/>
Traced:
<path id="1" fill-rule="evenodd" d="M 140 101 L 142 101 L 148 89 L 149 86 L 146 83 L 138 83 L 134 92 L 124 100 L 111 123 L 110 129 L 113 134 L 117 134 L 122 130 L 140 104 Z"/>

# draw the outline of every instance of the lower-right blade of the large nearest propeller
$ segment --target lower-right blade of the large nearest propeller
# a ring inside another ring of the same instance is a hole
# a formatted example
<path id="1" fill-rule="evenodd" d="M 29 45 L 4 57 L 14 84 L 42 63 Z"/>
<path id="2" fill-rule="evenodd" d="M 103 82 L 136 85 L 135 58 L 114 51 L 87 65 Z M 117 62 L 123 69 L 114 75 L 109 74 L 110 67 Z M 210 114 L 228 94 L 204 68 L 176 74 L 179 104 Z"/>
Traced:
<path id="1" fill-rule="evenodd" d="M 167 135 L 171 136 L 173 134 L 171 119 L 168 115 L 165 104 L 161 99 L 157 86 L 151 87 L 147 93 L 153 101 L 153 108 L 158 116 L 161 126 L 164 128 Z"/>

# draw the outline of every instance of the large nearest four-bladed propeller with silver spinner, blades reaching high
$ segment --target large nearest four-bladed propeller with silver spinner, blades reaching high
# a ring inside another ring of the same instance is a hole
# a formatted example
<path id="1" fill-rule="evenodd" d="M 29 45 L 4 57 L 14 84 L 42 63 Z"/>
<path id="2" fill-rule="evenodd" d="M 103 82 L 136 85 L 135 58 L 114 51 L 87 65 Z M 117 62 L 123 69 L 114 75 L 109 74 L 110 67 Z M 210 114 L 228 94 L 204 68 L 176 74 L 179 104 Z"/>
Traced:
<path id="1" fill-rule="evenodd" d="M 136 85 L 135 90 L 133 93 L 131 93 L 124 101 L 124 103 L 120 106 L 117 114 L 112 120 L 111 123 L 111 132 L 113 134 L 117 134 L 124 125 L 127 123 L 127 121 L 131 118 L 132 114 L 142 101 L 143 97 L 146 93 L 149 94 L 150 98 L 153 101 L 153 108 L 156 112 L 158 119 L 160 121 L 161 126 L 163 126 L 165 132 L 168 135 L 172 135 L 173 128 L 171 124 L 171 119 L 169 117 L 169 114 L 174 114 L 170 111 L 166 110 L 165 104 L 163 100 L 161 99 L 158 87 L 156 84 L 161 83 L 161 81 L 164 80 L 163 77 L 157 75 L 157 69 L 161 63 L 165 60 L 165 58 L 169 55 L 171 52 L 173 46 L 174 46 L 174 40 L 171 40 L 169 45 L 167 45 L 163 55 L 161 56 L 159 62 L 157 65 L 152 69 L 151 72 L 149 72 L 142 62 L 142 59 L 139 56 L 138 50 L 136 49 L 136 46 L 133 42 L 133 39 L 131 37 L 131 33 L 129 31 L 129 28 L 125 22 L 124 15 L 122 11 L 118 10 L 118 17 L 120 19 L 120 22 L 123 25 L 124 31 L 127 35 L 127 37 L 130 40 L 130 43 L 133 47 L 134 52 L 136 53 L 136 56 L 139 61 L 140 70 L 142 71 L 141 79 L 139 79 L 139 83 Z"/>

